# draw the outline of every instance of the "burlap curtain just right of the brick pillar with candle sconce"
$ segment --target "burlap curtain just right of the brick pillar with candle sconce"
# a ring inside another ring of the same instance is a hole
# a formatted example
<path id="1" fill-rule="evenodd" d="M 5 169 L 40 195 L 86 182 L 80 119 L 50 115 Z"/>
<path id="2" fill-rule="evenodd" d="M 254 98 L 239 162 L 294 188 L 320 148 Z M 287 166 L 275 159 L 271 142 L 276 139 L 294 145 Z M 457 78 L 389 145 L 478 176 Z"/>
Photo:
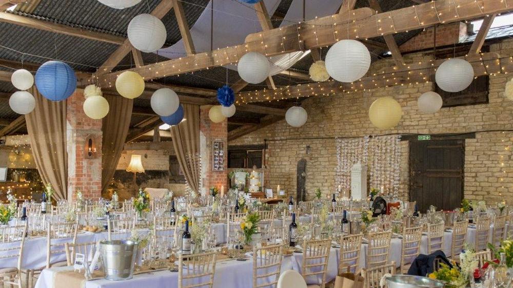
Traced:
<path id="1" fill-rule="evenodd" d="M 103 118 L 102 131 L 102 191 L 116 171 L 132 117 L 133 99 L 119 95 L 104 95 L 109 102 L 109 114 Z"/>

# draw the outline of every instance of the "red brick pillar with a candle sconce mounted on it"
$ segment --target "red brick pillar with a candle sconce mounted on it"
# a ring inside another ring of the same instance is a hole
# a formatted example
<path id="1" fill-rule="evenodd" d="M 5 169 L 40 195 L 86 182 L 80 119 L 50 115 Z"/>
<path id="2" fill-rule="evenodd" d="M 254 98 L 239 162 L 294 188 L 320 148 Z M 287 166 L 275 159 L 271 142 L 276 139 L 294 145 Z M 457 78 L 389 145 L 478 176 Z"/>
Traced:
<path id="1" fill-rule="evenodd" d="M 68 98 L 68 199 L 72 200 L 76 190 L 82 191 L 84 198 L 102 196 L 102 120 L 86 116 L 83 92 L 77 89 Z M 89 138 L 96 149 L 91 157 L 87 153 Z"/>

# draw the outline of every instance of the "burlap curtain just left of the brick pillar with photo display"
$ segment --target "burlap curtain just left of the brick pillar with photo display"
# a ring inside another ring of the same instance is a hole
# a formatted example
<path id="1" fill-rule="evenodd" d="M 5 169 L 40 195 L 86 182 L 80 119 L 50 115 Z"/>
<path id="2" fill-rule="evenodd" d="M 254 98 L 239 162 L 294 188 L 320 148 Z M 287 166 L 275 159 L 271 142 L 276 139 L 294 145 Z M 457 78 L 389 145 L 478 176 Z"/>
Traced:
<path id="1" fill-rule="evenodd" d="M 184 172 L 185 180 L 190 188 L 198 193 L 200 189 L 200 170 L 195 160 L 200 152 L 200 106 L 182 104 L 184 118 L 178 125 L 171 126 L 173 147 L 178 158 L 180 168 Z"/>

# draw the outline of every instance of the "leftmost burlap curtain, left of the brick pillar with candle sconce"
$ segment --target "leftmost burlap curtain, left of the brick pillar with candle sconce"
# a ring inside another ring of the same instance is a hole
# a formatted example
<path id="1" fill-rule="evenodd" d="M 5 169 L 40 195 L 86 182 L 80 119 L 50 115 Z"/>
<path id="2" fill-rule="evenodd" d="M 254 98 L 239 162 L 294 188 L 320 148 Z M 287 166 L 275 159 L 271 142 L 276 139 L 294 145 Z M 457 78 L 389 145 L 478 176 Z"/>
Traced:
<path id="1" fill-rule="evenodd" d="M 68 190 L 68 152 L 66 150 L 66 103 L 44 98 L 35 86 L 34 110 L 25 115 L 30 146 L 43 183 L 55 190 L 55 200 L 66 199 Z"/>

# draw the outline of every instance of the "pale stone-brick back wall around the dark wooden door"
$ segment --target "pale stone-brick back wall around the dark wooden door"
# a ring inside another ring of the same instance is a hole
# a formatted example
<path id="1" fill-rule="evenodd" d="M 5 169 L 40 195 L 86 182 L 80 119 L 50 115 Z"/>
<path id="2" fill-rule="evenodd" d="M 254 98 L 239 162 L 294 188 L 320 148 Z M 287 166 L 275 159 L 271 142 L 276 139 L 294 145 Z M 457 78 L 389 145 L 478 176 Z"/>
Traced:
<path id="1" fill-rule="evenodd" d="M 490 46 L 492 52 L 513 55 L 513 40 L 504 40 Z M 427 53 L 405 55 L 407 61 L 428 59 Z M 371 70 L 380 67 L 372 65 Z M 489 103 L 481 105 L 442 108 L 434 115 L 418 111 L 417 98 L 433 89 L 433 83 L 420 83 L 370 91 L 341 94 L 328 97 L 310 97 L 302 106 L 308 112 L 307 123 L 300 128 L 290 127 L 284 120 L 244 137 L 231 141 L 230 145 L 263 144 L 267 141 L 266 167 L 269 176 L 267 187 L 280 185 L 287 193 L 295 194 L 297 163 L 307 160 L 306 190 L 310 197 L 315 188 L 326 194 L 335 191 L 335 169 L 337 166 L 334 137 L 397 134 L 443 134 L 500 130 L 499 132 L 477 132 L 476 139 L 466 140 L 465 149 L 465 196 L 495 203 L 499 198 L 513 201 L 513 165 L 509 149 L 513 145 L 513 101 L 503 95 L 508 75 L 490 76 Z M 391 130 L 373 127 L 368 119 L 368 108 L 381 96 L 392 96 L 403 108 L 399 125 Z M 305 139 L 330 137 L 331 139 Z M 287 140 L 302 138 L 303 140 Z M 306 153 L 310 145 L 310 153 Z M 401 142 L 402 158 L 400 173 L 400 196 L 408 195 L 408 151 L 407 141 Z M 506 147 L 508 147 L 506 149 Z M 501 158 L 501 156 L 503 156 Z M 504 163 L 502 168 L 501 163 Z M 502 168 L 502 169 L 501 169 Z M 501 171 L 502 170 L 502 171 Z M 505 172 L 504 172 L 505 171 Z M 502 181 L 501 181 L 502 179 Z M 503 187 L 504 186 L 504 187 Z"/>

